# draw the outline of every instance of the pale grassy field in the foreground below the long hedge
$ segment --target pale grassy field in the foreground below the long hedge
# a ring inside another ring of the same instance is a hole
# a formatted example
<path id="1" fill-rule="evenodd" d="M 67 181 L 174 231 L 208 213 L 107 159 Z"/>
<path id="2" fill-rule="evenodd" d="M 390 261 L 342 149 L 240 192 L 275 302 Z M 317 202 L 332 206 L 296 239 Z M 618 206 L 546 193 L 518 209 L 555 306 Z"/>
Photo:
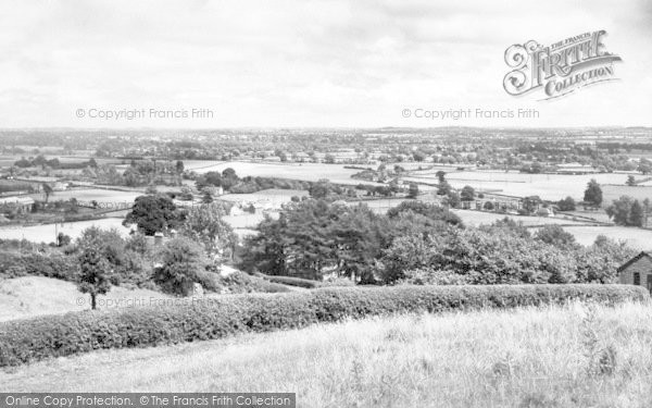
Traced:
<path id="1" fill-rule="evenodd" d="M 374 318 L 4 369 L 12 392 L 296 392 L 299 407 L 652 405 L 652 307 Z"/>

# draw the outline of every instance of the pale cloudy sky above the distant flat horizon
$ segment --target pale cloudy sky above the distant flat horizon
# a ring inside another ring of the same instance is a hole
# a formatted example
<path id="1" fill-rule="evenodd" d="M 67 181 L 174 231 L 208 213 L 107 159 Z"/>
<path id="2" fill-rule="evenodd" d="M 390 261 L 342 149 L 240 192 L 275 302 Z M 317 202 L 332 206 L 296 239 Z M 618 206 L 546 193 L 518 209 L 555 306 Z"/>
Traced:
<path id="1" fill-rule="evenodd" d="M 618 81 L 503 89 L 510 46 L 599 29 Z M 0 127 L 649 126 L 651 38 L 645 0 L 3 0 Z"/>

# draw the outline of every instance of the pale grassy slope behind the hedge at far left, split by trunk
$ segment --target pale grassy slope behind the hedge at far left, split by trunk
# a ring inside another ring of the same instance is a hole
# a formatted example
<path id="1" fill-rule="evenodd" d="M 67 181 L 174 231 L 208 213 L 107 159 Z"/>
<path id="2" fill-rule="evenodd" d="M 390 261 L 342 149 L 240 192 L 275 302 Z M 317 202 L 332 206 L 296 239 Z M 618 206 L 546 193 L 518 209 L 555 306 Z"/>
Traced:
<path id="1" fill-rule="evenodd" d="M 149 305 L 151 299 L 168 298 L 153 290 L 113 287 L 106 296 L 99 297 L 99 307 L 109 307 L 110 300 L 112 305 L 121 299 L 123 305 L 127 299 Z M 90 296 L 79 293 L 71 282 L 41 276 L 0 281 L 0 321 L 86 309 L 90 309 Z"/>

